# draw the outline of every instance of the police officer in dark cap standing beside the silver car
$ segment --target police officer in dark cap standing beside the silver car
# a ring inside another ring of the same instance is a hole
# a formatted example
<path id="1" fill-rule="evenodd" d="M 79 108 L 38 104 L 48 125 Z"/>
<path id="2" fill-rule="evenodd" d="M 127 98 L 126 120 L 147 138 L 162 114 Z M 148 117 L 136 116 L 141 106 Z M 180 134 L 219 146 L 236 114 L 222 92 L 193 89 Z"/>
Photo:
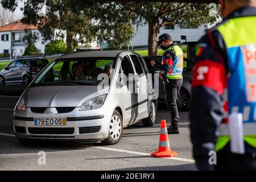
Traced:
<path id="1" fill-rule="evenodd" d="M 159 36 L 158 46 L 164 51 L 162 63 L 151 61 L 151 65 L 164 72 L 165 91 L 168 109 L 171 114 L 171 126 L 168 134 L 179 134 L 179 112 L 177 109 L 177 99 L 183 83 L 183 51 L 172 42 L 171 36 L 163 34 Z"/>

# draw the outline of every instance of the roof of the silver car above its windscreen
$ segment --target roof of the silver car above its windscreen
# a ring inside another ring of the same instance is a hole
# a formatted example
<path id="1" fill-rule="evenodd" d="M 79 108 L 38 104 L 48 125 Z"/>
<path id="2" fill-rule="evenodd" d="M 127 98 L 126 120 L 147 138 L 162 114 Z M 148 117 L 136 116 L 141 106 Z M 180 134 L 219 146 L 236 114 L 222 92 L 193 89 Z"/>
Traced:
<path id="1" fill-rule="evenodd" d="M 123 51 L 84 51 L 60 56 L 58 59 L 81 58 L 81 57 L 117 57 Z"/>

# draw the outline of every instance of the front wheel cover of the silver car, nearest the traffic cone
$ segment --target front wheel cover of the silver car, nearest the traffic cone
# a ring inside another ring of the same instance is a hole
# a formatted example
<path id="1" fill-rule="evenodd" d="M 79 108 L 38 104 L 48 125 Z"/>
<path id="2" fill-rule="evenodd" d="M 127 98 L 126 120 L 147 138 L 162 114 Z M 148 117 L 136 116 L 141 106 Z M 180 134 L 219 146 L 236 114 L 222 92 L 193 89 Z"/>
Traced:
<path id="1" fill-rule="evenodd" d="M 109 134 L 110 137 L 113 140 L 118 140 L 121 136 L 122 132 L 122 125 L 121 125 L 121 119 L 118 117 L 118 115 L 113 115 L 110 121 L 110 128 L 109 128 Z"/>

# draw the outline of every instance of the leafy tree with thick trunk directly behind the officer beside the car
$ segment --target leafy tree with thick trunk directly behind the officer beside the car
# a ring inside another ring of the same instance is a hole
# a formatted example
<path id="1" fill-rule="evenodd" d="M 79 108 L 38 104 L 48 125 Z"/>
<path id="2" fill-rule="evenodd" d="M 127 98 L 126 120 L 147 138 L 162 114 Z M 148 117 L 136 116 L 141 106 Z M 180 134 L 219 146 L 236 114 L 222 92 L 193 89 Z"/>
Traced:
<path id="1" fill-rule="evenodd" d="M 157 32 L 167 24 L 198 27 L 219 17 L 209 16 L 208 4 L 170 2 L 121 2 L 123 10 L 135 15 L 135 22 L 148 24 L 148 54 L 157 53 Z"/>

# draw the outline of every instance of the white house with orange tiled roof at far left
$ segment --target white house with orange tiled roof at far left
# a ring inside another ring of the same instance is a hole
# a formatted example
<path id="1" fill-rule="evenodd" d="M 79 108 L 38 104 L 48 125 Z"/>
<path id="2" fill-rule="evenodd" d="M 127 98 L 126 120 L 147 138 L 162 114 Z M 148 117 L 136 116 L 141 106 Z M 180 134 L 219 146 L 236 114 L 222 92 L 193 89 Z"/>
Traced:
<path id="1" fill-rule="evenodd" d="M 11 53 L 12 56 L 22 56 L 27 47 L 27 43 L 23 41 L 25 30 L 31 30 L 32 34 L 36 32 L 38 40 L 36 40 L 35 46 L 44 53 L 45 45 L 42 43 L 42 36 L 38 28 L 23 24 L 18 20 L 0 27 L 0 54 Z"/>

